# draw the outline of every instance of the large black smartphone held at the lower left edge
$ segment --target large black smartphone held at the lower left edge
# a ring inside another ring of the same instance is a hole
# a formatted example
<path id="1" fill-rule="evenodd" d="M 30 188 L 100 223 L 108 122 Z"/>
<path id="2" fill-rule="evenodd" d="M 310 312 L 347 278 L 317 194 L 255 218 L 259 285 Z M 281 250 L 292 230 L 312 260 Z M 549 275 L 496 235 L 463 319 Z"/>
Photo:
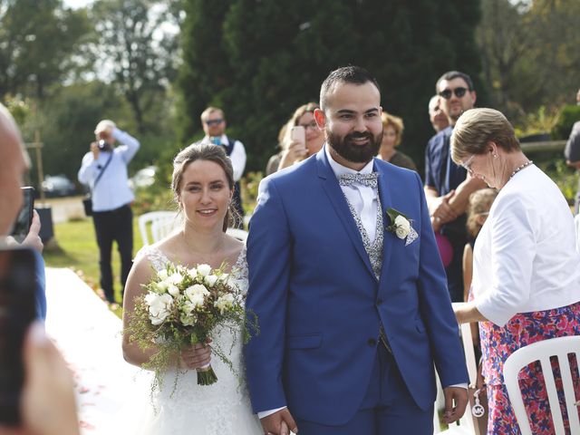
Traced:
<path id="1" fill-rule="evenodd" d="M 0 248 L 0 426 L 20 423 L 23 343 L 36 318 L 34 252 Z"/>

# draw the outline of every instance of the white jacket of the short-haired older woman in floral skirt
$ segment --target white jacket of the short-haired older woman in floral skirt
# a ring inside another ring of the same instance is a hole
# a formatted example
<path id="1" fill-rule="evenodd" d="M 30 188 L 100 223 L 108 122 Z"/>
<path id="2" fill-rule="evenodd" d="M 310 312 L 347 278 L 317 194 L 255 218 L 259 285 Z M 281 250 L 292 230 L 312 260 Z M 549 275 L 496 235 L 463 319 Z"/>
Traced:
<path id="1" fill-rule="evenodd" d="M 499 326 L 518 313 L 580 300 L 580 255 L 564 196 L 531 165 L 507 181 L 481 228 L 473 253 L 478 310 Z"/>

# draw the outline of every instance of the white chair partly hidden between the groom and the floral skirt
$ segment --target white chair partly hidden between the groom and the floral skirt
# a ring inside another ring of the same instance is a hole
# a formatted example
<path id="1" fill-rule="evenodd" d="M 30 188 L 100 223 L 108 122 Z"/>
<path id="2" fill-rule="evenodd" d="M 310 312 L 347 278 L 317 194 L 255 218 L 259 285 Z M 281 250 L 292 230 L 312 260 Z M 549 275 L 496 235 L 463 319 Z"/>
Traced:
<path id="1" fill-rule="evenodd" d="M 454 303 L 453 306 L 456 306 L 462 303 Z M 469 373 L 469 384 L 473 385 L 476 382 L 477 375 L 478 375 L 478 364 L 475 361 L 475 353 L 473 352 L 473 340 L 471 338 L 471 324 L 461 324 L 459 327 L 461 332 L 461 342 L 463 343 L 463 351 L 465 353 L 465 359 L 468 366 L 468 373 Z M 439 380 L 438 380 L 438 388 Z M 437 407 L 435 407 L 434 415 L 433 415 L 433 426 L 435 428 L 433 433 L 437 433 L 440 435 L 482 435 L 479 433 L 479 427 L 477 424 L 474 423 L 474 417 L 471 413 L 471 405 L 468 401 L 467 407 L 465 408 L 465 413 L 463 417 L 459 419 L 459 421 L 455 423 L 451 423 L 449 425 L 449 429 L 447 430 L 440 430 L 440 420 L 439 420 L 439 412 Z"/>

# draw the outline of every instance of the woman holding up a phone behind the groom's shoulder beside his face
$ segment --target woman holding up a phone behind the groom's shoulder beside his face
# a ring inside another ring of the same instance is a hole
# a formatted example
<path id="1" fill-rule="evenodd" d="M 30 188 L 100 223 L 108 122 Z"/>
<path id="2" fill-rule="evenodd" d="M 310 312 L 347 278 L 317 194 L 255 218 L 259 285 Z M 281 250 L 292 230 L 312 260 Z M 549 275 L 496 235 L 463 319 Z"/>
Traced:
<path id="1" fill-rule="evenodd" d="M 292 117 L 285 123 L 284 131 L 281 131 L 280 147 L 282 150 L 268 160 L 266 175 L 292 166 L 296 162 L 316 154 L 323 147 L 324 133 L 320 131 L 314 120 L 316 109 L 318 109 L 318 104 L 315 102 L 304 104 L 296 109 Z M 305 142 L 292 139 L 292 128 L 296 126 L 304 127 Z"/>

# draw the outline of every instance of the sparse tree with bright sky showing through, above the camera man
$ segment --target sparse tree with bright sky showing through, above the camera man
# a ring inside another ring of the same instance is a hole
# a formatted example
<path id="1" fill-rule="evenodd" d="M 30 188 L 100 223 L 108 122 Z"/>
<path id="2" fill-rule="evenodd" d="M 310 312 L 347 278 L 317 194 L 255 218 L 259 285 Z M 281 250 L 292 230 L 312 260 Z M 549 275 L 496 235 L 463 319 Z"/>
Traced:
<path id="1" fill-rule="evenodd" d="M 92 14 L 99 34 L 94 47 L 101 77 L 111 79 L 131 106 L 137 131 L 152 104 L 162 103 L 177 72 L 179 2 L 99 0 Z M 160 101 L 161 100 L 161 101 Z"/>

